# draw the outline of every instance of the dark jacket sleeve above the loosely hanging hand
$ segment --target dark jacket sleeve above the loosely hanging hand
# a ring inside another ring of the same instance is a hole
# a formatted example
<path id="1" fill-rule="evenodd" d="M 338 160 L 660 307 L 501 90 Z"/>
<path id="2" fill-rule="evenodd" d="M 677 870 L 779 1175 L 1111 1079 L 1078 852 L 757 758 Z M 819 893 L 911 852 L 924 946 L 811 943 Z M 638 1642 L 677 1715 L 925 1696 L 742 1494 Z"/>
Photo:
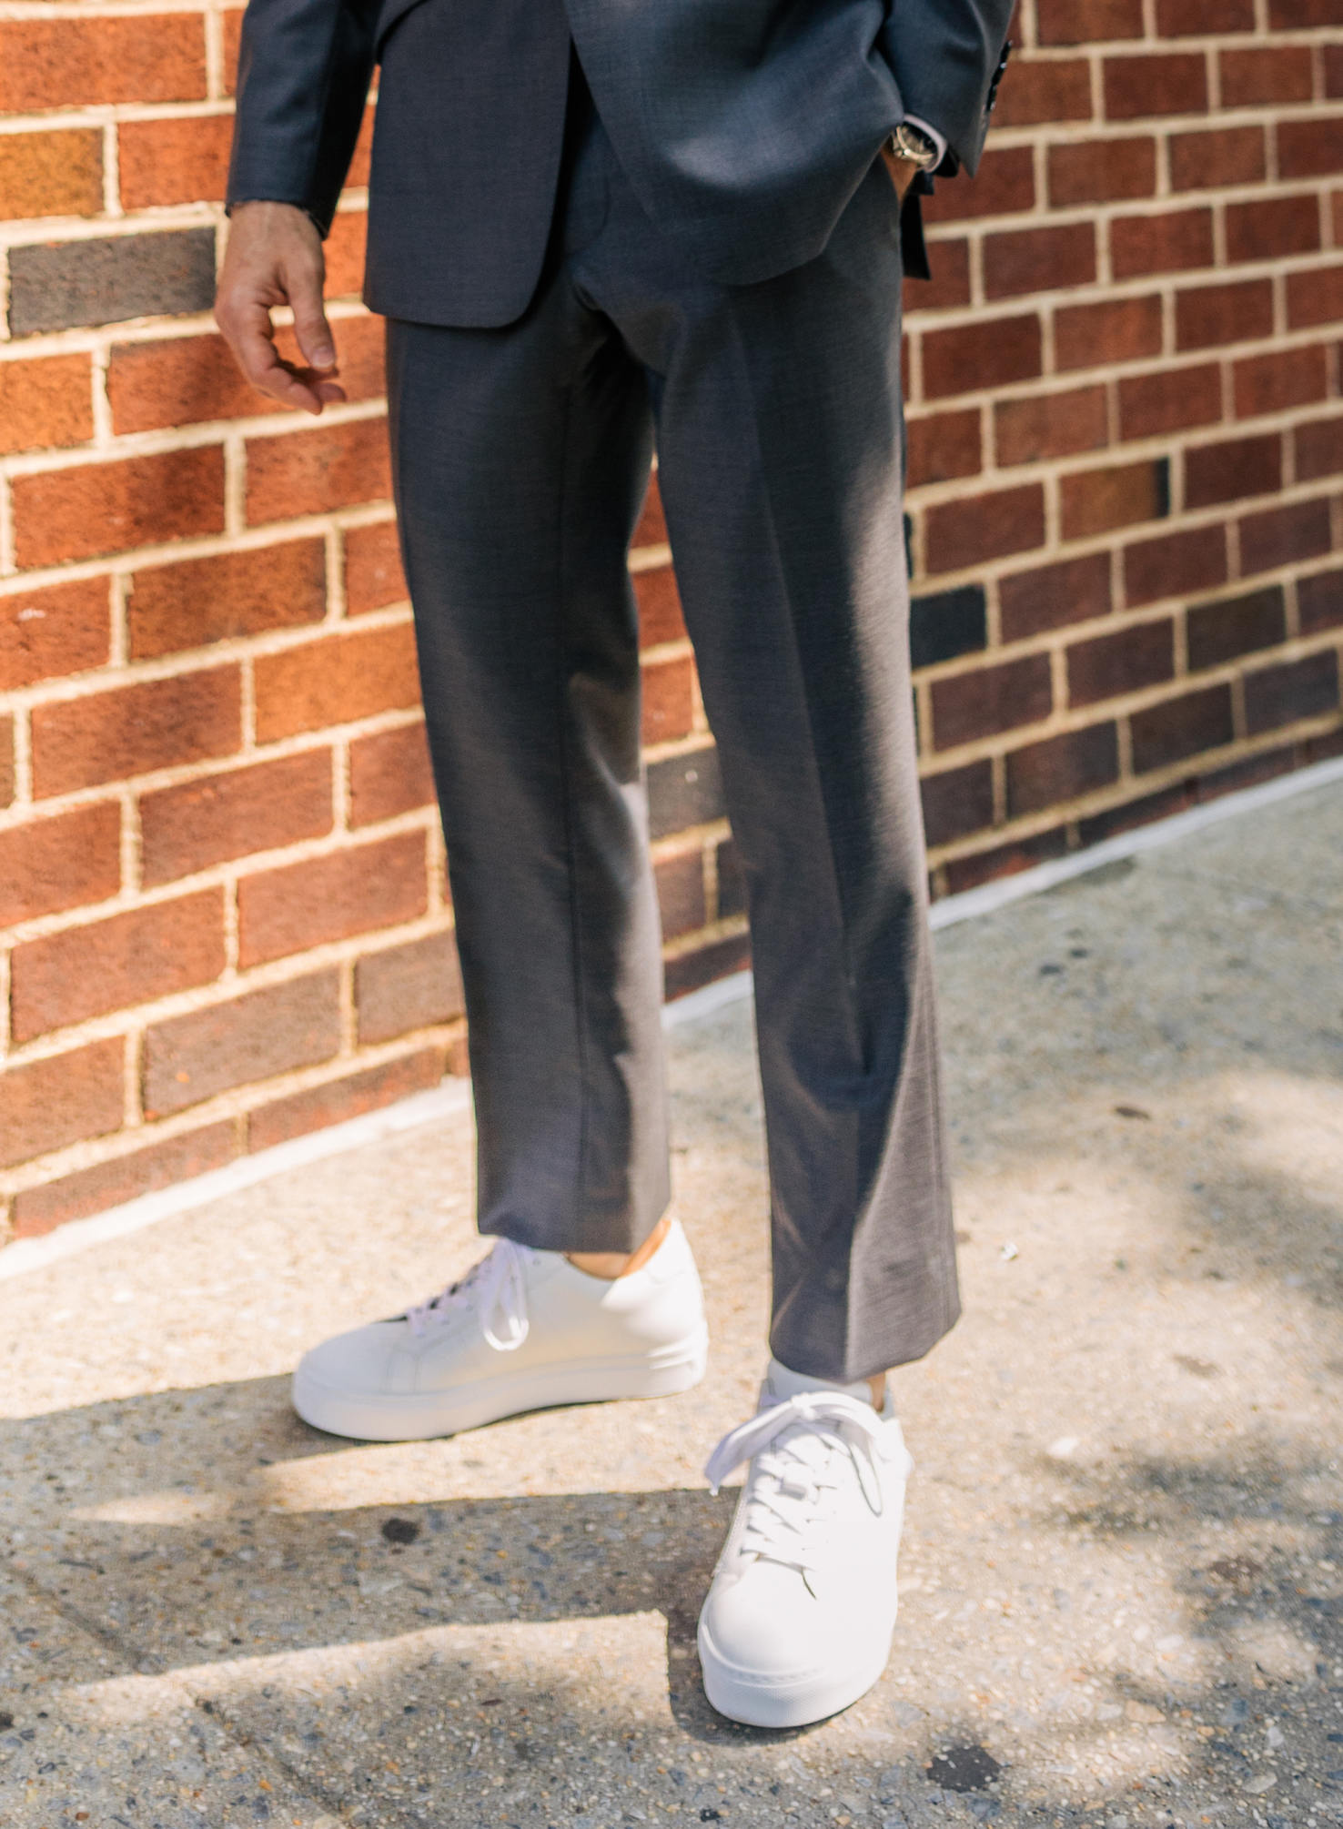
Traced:
<path id="1" fill-rule="evenodd" d="M 377 49 L 377 0 L 251 0 L 227 207 L 296 203 L 326 236 Z"/>

